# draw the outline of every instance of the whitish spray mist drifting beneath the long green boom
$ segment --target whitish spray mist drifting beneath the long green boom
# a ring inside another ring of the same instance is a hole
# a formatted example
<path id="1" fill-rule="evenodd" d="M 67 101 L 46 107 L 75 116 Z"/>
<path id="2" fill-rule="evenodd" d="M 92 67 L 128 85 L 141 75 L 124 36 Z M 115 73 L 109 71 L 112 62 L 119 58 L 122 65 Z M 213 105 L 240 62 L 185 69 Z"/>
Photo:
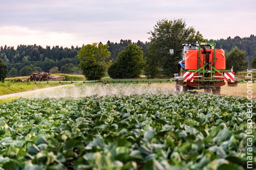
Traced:
<path id="1" fill-rule="evenodd" d="M 132 94 L 170 94 L 174 93 L 169 88 L 152 86 L 142 86 L 135 84 L 81 84 L 67 86 L 59 89 L 42 91 L 34 94 L 32 98 L 63 98 L 63 97 L 86 97 L 86 96 L 113 96 L 113 95 L 132 95 Z"/>

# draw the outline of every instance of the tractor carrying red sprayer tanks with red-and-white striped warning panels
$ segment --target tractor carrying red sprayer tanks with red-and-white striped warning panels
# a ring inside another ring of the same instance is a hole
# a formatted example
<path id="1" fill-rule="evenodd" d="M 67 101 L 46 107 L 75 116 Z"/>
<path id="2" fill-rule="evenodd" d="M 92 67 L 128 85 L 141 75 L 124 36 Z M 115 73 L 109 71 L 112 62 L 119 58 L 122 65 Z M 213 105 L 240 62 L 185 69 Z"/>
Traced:
<path id="1" fill-rule="evenodd" d="M 178 73 L 174 75 L 175 91 L 204 89 L 205 92 L 220 94 L 221 86 L 237 86 L 246 81 L 235 78 L 233 67 L 226 70 L 225 52 L 216 48 L 215 42 L 198 42 L 182 44 L 182 60 L 178 63 Z"/>

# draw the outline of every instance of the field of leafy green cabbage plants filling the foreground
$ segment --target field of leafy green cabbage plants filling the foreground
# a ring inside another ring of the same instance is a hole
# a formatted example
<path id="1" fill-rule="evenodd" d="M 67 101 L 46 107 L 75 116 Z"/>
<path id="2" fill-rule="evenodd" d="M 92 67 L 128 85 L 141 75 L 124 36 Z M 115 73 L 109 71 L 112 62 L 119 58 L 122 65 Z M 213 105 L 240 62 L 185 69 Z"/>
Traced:
<path id="1" fill-rule="evenodd" d="M 47 92 L 0 105 L 0 169 L 247 168 L 248 99 L 137 88 L 89 95 L 76 86 L 69 97 Z M 255 100 L 252 108 L 256 122 Z"/>

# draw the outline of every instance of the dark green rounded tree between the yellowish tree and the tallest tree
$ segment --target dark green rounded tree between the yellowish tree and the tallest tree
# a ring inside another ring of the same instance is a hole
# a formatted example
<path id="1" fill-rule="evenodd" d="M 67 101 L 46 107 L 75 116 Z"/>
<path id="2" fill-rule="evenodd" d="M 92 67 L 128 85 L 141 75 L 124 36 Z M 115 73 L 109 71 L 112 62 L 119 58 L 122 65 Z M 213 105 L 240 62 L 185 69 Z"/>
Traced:
<path id="1" fill-rule="evenodd" d="M 143 51 L 136 44 L 129 43 L 115 62 L 108 68 L 111 78 L 138 78 L 144 67 Z"/>

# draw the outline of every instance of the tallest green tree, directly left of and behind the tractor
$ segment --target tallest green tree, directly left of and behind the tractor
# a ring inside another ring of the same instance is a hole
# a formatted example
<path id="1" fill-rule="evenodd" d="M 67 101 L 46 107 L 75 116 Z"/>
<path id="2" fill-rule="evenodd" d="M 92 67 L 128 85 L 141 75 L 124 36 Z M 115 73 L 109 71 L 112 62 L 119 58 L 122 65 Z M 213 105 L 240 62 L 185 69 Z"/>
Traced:
<path id="1" fill-rule="evenodd" d="M 177 60 L 168 54 L 169 49 L 181 49 L 183 42 L 188 42 L 195 37 L 195 29 L 186 27 L 185 20 L 174 19 L 159 20 L 154 26 L 154 31 L 150 31 L 146 56 L 145 75 L 147 77 L 172 77 L 177 73 Z M 198 33 L 200 36 L 200 33 Z"/>

